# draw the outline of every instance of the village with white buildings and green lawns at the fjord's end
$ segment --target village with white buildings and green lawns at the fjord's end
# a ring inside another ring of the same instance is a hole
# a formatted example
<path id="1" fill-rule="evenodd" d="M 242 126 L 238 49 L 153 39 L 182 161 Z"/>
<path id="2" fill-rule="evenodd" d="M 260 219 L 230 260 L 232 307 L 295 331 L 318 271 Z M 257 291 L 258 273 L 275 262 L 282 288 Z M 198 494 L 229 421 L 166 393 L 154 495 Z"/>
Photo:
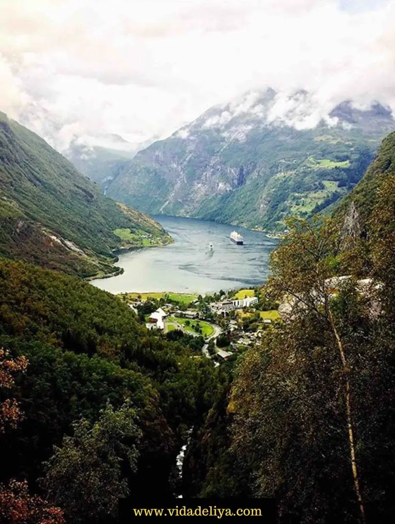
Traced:
<path id="1" fill-rule="evenodd" d="M 149 330 L 194 337 L 201 354 L 228 361 L 258 343 L 264 330 L 280 321 L 278 304 L 262 297 L 262 289 L 193 293 L 122 293 L 119 297 Z"/>

